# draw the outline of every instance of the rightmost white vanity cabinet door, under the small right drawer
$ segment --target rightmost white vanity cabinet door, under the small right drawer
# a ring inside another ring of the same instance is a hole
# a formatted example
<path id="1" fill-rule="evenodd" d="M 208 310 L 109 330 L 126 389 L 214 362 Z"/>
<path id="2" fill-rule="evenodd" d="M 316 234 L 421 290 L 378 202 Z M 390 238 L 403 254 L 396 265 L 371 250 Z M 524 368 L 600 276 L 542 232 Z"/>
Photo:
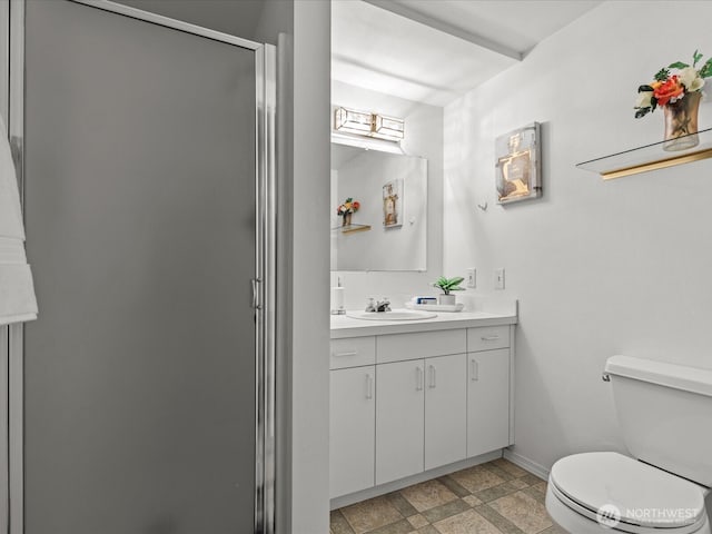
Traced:
<path id="1" fill-rule="evenodd" d="M 510 349 L 467 355 L 467 456 L 510 445 Z"/>

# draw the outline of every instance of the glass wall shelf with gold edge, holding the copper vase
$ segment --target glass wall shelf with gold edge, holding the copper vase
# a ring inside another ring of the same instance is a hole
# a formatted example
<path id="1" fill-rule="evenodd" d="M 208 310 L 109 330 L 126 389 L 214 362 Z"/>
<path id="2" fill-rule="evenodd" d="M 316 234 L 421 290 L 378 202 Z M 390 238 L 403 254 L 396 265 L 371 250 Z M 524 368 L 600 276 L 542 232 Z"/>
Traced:
<path id="1" fill-rule="evenodd" d="M 696 136 L 696 137 L 695 137 Z M 665 150 L 669 141 L 654 142 L 623 152 L 604 156 L 577 164 L 576 168 L 600 174 L 604 180 L 637 175 L 651 170 L 664 169 L 676 165 L 690 164 L 701 159 L 712 158 L 712 128 L 701 130 L 680 138 L 699 142 L 682 150 Z"/>

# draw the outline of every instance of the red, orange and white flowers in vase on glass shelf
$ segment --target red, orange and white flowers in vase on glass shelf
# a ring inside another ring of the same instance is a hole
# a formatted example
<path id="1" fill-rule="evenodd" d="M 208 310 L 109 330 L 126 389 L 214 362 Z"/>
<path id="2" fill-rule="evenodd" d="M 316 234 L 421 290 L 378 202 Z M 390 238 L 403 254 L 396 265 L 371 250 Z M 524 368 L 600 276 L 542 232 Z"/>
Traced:
<path id="1" fill-rule="evenodd" d="M 702 55 L 696 50 L 692 55 L 692 65 L 675 61 L 669 67 L 660 69 L 650 85 L 637 88 L 637 101 L 635 102 L 635 118 L 645 117 L 655 111 L 657 106 L 664 107 L 685 98 L 685 95 L 700 92 L 704 86 L 704 78 L 712 76 L 712 58 L 708 59 L 698 69 Z M 672 73 L 670 69 L 676 69 Z"/>

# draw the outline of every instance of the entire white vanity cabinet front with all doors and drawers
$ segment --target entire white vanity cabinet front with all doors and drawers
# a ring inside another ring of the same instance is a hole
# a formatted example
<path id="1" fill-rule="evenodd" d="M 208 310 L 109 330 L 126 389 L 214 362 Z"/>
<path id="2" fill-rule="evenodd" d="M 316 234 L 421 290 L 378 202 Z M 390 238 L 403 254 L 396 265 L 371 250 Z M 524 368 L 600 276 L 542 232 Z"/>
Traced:
<path id="1" fill-rule="evenodd" d="M 511 445 L 511 329 L 332 339 L 332 498 Z"/>

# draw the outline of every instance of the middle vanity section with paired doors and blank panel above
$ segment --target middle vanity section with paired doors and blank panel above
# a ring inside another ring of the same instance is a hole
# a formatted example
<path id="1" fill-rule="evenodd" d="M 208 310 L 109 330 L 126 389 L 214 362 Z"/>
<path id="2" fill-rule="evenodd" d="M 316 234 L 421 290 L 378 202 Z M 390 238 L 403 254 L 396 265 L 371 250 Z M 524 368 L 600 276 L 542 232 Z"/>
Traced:
<path id="1" fill-rule="evenodd" d="M 376 336 L 376 484 L 463 459 L 464 328 Z"/>

